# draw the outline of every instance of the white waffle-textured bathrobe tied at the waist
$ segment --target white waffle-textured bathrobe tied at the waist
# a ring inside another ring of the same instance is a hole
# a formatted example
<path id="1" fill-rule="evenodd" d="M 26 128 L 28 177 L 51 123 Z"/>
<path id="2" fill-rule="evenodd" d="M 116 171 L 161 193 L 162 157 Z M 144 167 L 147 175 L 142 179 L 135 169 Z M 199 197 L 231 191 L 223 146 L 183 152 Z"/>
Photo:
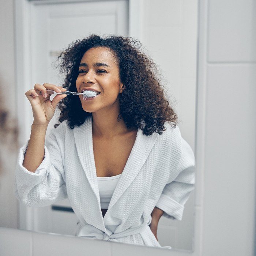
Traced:
<path id="1" fill-rule="evenodd" d="M 178 127 L 166 123 L 162 135 L 143 135 L 135 144 L 114 190 L 108 211 L 101 213 L 93 154 L 92 121 L 70 129 L 64 121 L 46 139 L 45 158 L 31 173 L 21 148 L 15 193 L 27 206 L 47 206 L 69 198 L 80 221 L 78 235 L 130 244 L 160 246 L 150 230 L 151 212 L 181 219 L 193 190 L 195 159 Z"/>

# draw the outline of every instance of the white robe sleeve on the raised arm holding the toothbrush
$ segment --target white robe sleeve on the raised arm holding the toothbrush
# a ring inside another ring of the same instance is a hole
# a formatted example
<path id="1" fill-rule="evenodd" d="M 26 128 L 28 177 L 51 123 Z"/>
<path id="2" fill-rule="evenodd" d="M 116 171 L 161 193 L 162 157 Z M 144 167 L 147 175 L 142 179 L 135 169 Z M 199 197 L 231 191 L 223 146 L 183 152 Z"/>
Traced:
<path id="1" fill-rule="evenodd" d="M 15 177 L 15 195 L 27 206 L 48 206 L 67 197 L 63 161 L 56 136 L 46 141 L 44 160 L 34 173 L 22 165 L 27 144 L 19 151 Z"/>

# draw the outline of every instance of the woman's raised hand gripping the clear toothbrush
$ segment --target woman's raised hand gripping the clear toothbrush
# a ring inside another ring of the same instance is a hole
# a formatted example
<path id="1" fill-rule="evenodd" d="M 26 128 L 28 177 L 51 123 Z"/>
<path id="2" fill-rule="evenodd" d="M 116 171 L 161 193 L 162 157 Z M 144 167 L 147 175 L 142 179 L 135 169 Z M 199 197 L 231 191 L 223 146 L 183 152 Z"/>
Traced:
<path id="1" fill-rule="evenodd" d="M 34 125 L 47 126 L 54 115 L 57 104 L 61 99 L 67 97 L 65 94 L 58 94 L 51 101 L 50 95 L 46 94 L 46 90 L 54 90 L 56 93 L 66 91 L 63 87 L 44 83 L 43 85 L 35 84 L 34 89 L 25 93 L 32 107 Z M 42 94 L 37 94 L 36 91 L 41 91 Z"/>

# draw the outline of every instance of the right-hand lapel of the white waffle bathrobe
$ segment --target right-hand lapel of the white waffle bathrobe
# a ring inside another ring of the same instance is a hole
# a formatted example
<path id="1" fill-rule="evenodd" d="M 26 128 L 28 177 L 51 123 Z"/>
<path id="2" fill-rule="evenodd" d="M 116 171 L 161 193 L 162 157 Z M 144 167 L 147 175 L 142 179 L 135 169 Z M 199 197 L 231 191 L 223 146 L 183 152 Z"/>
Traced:
<path id="1" fill-rule="evenodd" d="M 122 176 L 118 181 L 113 196 L 110 200 L 108 212 L 139 173 L 140 169 L 146 162 L 147 157 L 155 144 L 155 141 L 157 140 L 157 135 L 157 133 L 153 133 L 150 136 L 146 136 L 143 135 L 142 130 L 138 130 L 135 144 L 124 167 Z"/>

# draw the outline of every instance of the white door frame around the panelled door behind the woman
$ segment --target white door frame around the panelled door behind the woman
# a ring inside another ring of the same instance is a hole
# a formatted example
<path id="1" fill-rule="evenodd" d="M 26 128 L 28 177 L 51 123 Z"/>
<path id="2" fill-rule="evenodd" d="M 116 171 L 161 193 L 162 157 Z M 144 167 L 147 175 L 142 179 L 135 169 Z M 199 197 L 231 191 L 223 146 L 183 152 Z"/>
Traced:
<path id="1" fill-rule="evenodd" d="M 40 0 L 40 3 L 72 3 L 72 2 L 86 2 L 90 0 Z M 106 0 L 94 0 L 106 1 Z M 118 1 L 118 0 L 116 0 Z M 143 0 L 128 0 L 129 1 L 129 36 L 141 39 L 142 36 L 142 1 Z M 15 16 L 15 73 L 16 73 L 16 102 L 17 102 L 17 116 L 19 127 L 19 147 L 25 144 L 30 136 L 30 120 L 29 113 L 31 108 L 26 97 L 25 85 L 31 84 L 31 53 L 30 53 L 30 8 L 34 4 L 33 0 L 14 0 L 14 16 Z M 24 115 L 26 113 L 26 115 Z M 22 117 L 22 118 L 20 118 Z M 26 207 L 19 203 L 19 219 L 18 226 L 20 229 L 33 230 L 37 229 L 37 208 Z"/>

